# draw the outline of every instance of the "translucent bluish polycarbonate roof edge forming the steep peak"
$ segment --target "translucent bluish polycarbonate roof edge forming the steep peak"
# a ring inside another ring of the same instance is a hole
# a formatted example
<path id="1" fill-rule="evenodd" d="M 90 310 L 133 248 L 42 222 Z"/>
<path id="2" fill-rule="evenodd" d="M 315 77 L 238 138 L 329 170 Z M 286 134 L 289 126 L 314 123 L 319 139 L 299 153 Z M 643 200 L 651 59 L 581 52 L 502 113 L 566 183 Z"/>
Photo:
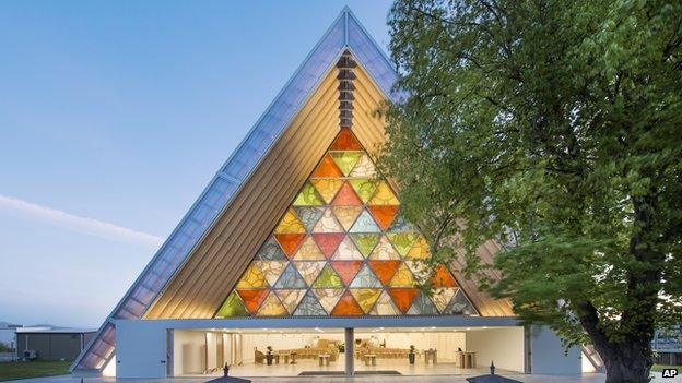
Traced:
<path id="1" fill-rule="evenodd" d="M 111 311 L 71 371 L 102 370 L 106 366 L 116 347 L 113 321 L 144 315 L 345 49 L 351 50 L 387 97 L 395 99 L 391 88 L 398 79 L 396 70 L 352 11 L 344 8 Z"/>

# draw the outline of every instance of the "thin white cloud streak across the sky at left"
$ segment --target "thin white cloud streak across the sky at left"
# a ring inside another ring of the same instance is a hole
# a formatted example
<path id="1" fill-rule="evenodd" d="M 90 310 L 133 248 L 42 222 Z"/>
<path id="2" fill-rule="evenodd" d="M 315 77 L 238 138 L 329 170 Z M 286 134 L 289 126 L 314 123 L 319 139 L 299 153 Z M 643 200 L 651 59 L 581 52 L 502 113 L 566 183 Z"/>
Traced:
<path id="1" fill-rule="evenodd" d="M 94 218 L 81 217 L 48 206 L 0 194 L 0 212 L 2 211 L 10 211 L 28 219 L 39 220 L 70 231 L 117 242 L 158 248 L 164 241 L 163 238 L 146 232 Z"/>

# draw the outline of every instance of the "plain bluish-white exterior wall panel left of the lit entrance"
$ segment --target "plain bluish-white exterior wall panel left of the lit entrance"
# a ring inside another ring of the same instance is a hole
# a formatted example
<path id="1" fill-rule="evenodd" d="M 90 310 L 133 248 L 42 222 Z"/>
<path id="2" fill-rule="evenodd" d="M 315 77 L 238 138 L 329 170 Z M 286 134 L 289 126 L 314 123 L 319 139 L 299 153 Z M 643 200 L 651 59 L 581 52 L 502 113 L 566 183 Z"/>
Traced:
<path id="1" fill-rule="evenodd" d="M 145 321 L 116 324 L 116 378 L 165 378 L 166 328 Z"/>

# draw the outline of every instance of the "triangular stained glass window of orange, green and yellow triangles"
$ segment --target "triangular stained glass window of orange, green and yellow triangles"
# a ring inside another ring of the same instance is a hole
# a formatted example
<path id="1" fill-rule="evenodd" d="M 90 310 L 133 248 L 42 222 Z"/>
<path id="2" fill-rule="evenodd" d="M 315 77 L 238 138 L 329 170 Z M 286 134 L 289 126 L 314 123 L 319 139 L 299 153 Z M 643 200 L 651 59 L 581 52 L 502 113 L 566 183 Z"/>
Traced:
<path id="1" fill-rule="evenodd" d="M 426 239 L 400 215 L 350 129 L 342 129 L 256 253 L 216 318 L 475 315 Z M 430 283 L 426 294 L 421 284 Z"/>

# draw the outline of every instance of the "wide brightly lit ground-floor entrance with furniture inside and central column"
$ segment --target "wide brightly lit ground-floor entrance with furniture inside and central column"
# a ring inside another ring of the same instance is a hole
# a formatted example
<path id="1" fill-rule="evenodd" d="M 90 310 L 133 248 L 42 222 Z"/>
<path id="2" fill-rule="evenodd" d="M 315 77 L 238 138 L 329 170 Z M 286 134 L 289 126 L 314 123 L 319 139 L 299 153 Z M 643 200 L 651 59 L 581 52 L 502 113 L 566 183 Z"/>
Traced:
<path id="1" fill-rule="evenodd" d="M 176 330 L 175 376 L 524 371 L 522 327 Z M 350 343 L 349 343 L 350 342 Z"/>

